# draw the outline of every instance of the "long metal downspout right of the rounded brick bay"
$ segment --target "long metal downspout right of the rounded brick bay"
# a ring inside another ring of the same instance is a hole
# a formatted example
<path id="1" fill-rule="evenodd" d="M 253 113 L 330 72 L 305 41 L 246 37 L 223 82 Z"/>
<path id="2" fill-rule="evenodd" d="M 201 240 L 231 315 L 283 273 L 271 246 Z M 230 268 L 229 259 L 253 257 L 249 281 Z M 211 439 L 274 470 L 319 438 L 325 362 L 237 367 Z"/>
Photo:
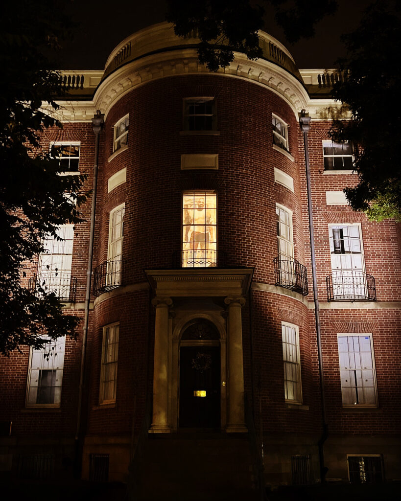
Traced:
<path id="1" fill-rule="evenodd" d="M 302 110 L 301 116 L 299 118 L 299 125 L 301 127 L 301 131 L 303 132 L 304 149 L 305 149 L 305 171 L 306 171 L 306 187 L 308 193 L 308 216 L 309 216 L 309 234 L 310 234 L 310 254 L 312 261 L 313 301 L 315 303 L 316 340 L 317 340 L 317 355 L 319 362 L 320 399 L 322 406 L 322 427 L 323 427 L 322 435 L 318 441 L 318 449 L 319 449 L 319 463 L 320 463 L 320 480 L 322 483 L 324 483 L 326 481 L 325 476 L 327 468 L 324 465 L 323 445 L 328 436 L 328 428 L 326 419 L 326 403 L 324 396 L 320 310 L 319 310 L 319 299 L 318 299 L 317 279 L 316 279 L 315 237 L 313 231 L 312 195 L 311 195 L 311 185 L 310 185 L 310 165 L 309 165 L 309 148 L 308 148 L 308 132 L 310 129 L 310 117 L 307 117 L 305 115 L 306 115 L 305 110 Z"/>

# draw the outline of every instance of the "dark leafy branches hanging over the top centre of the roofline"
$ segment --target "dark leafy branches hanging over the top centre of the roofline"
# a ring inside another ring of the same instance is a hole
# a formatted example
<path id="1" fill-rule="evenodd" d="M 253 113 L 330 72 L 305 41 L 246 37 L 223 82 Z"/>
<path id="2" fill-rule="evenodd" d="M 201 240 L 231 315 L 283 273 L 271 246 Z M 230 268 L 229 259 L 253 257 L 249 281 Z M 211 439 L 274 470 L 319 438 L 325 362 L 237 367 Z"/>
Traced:
<path id="1" fill-rule="evenodd" d="M 275 10 L 275 19 L 291 43 L 314 35 L 314 25 L 337 8 L 335 0 L 262 0 Z M 179 37 L 196 32 L 200 39 L 199 62 L 211 71 L 225 68 L 234 51 L 248 59 L 262 56 L 258 31 L 263 28 L 264 9 L 250 0 L 167 0 L 167 21 Z"/>

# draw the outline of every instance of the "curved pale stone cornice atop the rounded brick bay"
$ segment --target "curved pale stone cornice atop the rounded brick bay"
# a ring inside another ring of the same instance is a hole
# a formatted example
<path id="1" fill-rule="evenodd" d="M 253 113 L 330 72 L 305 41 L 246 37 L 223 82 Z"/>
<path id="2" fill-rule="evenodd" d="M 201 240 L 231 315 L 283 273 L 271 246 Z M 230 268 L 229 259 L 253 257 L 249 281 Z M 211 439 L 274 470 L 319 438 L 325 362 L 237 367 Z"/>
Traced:
<path id="1" fill-rule="evenodd" d="M 97 88 L 95 108 L 107 117 L 119 99 L 140 85 L 169 76 L 199 74 L 241 78 L 266 87 L 290 105 L 297 119 L 298 112 L 308 107 L 309 96 L 302 83 L 277 64 L 264 59 L 249 61 L 244 54 L 235 53 L 228 68 L 211 73 L 199 64 L 195 49 L 179 49 L 152 54 L 118 68 Z"/>

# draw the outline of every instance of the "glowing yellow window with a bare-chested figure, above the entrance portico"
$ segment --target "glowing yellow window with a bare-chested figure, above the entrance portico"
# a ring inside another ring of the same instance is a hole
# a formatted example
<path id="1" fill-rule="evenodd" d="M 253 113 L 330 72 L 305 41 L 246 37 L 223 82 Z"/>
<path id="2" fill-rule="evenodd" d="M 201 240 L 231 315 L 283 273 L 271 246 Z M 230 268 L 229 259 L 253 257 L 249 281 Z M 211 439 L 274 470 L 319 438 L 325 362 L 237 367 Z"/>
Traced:
<path id="1" fill-rule="evenodd" d="M 217 195 L 192 191 L 182 196 L 182 267 L 217 266 Z"/>

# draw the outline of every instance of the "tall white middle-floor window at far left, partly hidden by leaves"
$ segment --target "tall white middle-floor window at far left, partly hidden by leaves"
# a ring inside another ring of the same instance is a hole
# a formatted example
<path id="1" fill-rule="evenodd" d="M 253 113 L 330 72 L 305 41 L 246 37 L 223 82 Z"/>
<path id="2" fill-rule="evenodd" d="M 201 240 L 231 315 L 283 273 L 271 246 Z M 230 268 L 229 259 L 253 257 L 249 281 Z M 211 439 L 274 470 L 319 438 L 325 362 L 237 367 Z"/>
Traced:
<path id="1" fill-rule="evenodd" d="M 46 292 L 53 292 L 67 301 L 71 287 L 73 224 L 60 226 L 57 237 L 47 234 L 44 238 L 44 250 L 39 257 L 38 284 Z"/>

